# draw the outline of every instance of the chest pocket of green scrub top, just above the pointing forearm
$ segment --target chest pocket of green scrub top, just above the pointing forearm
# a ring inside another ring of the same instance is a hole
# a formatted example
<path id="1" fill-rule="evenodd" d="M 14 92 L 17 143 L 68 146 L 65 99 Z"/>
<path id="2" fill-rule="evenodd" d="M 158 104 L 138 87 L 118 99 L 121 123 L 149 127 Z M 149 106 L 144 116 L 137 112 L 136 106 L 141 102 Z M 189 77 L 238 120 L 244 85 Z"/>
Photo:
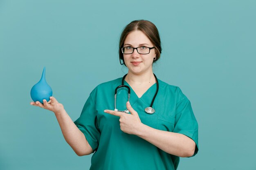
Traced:
<path id="1" fill-rule="evenodd" d="M 174 129 L 175 117 L 158 115 L 157 129 L 172 132 Z"/>

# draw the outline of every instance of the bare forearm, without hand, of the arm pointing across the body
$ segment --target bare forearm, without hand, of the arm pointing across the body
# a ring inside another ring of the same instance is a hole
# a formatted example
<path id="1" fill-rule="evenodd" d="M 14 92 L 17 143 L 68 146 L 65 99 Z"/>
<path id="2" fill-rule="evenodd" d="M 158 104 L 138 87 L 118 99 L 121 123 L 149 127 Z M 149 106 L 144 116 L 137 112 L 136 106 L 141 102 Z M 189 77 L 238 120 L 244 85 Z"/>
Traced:
<path id="1" fill-rule="evenodd" d="M 195 142 L 180 133 L 158 130 L 141 124 L 136 135 L 171 155 L 191 157 L 194 154 Z"/>

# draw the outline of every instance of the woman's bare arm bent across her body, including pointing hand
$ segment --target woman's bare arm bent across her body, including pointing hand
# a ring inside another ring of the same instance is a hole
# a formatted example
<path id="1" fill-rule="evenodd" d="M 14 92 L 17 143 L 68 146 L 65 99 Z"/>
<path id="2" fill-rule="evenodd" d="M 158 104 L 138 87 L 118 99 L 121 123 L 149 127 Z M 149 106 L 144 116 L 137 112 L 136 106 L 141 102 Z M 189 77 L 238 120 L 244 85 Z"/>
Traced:
<path id="1" fill-rule="evenodd" d="M 104 112 L 119 116 L 120 128 L 123 132 L 137 135 L 142 139 L 162 149 L 171 155 L 178 157 L 191 157 L 195 152 L 195 142 L 180 133 L 158 130 L 142 124 L 138 113 L 127 102 L 126 107 L 131 114 L 104 110 Z"/>

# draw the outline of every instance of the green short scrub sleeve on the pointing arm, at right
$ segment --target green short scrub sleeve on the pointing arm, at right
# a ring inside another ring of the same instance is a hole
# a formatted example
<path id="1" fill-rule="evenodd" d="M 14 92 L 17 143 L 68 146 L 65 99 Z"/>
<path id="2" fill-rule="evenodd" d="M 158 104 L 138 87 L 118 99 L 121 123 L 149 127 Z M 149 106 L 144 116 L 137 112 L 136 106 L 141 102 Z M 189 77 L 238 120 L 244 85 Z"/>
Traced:
<path id="1" fill-rule="evenodd" d="M 189 99 L 180 91 L 181 98 L 176 104 L 175 125 L 173 132 L 181 133 L 195 141 L 195 152 L 198 153 L 198 122 L 195 119 Z M 192 156 L 192 157 L 193 157 Z"/>

